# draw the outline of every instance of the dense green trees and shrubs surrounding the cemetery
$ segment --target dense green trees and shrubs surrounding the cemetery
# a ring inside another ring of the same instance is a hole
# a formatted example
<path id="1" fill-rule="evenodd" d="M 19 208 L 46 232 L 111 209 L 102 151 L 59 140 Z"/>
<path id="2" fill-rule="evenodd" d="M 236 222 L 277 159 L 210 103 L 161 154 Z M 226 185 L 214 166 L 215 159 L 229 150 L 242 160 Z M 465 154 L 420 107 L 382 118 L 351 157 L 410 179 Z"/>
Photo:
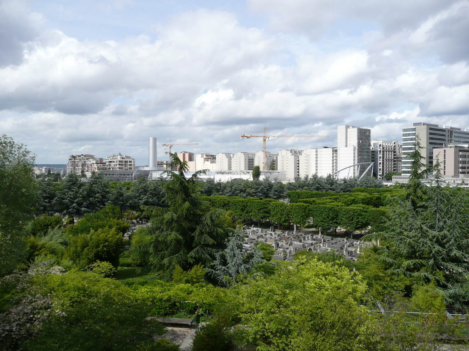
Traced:
<path id="1" fill-rule="evenodd" d="M 469 305 L 468 192 L 446 186 L 438 159 L 422 184 L 418 140 L 400 189 L 200 182 L 177 154 L 157 182 L 36 181 L 22 144 L 0 146 L 0 350 L 177 350 L 148 316 L 198 314 L 194 351 L 435 350 L 465 330 L 445 310 Z M 150 224 L 123 240 L 137 218 Z M 243 244 L 245 221 L 368 229 L 373 244 L 354 262 L 304 250 L 280 262 Z"/>

